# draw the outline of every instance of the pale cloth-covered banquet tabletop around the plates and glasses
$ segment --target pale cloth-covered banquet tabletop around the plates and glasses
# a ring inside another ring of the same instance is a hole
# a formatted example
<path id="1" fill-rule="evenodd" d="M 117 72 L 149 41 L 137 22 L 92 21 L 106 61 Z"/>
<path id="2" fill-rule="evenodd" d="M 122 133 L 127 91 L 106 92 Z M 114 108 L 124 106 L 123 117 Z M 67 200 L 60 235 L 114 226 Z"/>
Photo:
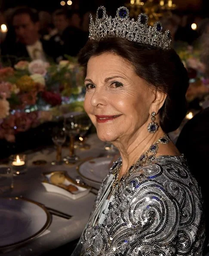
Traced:
<path id="1" fill-rule="evenodd" d="M 89 136 L 87 142 L 91 148 L 86 151 L 77 150 L 80 160 L 87 157 L 98 157 L 105 153 L 104 142 L 98 140 L 96 134 Z M 71 219 L 63 219 L 58 216 L 52 216 L 52 223 L 49 228 L 34 238 L 30 242 L 22 245 L 15 250 L 4 252 L 5 256 L 38 256 L 54 248 L 76 240 L 82 234 L 82 231 L 89 219 L 92 207 L 95 201 L 95 193 L 91 191 L 84 197 L 73 200 L 63 195 L 47 192 L 41 183 L 43 172 L 48 171 L 67 171 L 68 175 L 76 179 L 77 164 L 52 166 L 50 163 L 55 159 L 55 148 L 44 148 L 37 152 L 28 152 L 28 170 L 25 174 L 14 177 L 14 188 L 6 196 L 26 197 L 34 200 L 46 207 L 62 211 L 72 216 Z M 68 154 L 68 148 L 63 148 L 63 155 Z M 34 166 L 34 160 L 46 160 L 48 164 L 44 166 Z"/>

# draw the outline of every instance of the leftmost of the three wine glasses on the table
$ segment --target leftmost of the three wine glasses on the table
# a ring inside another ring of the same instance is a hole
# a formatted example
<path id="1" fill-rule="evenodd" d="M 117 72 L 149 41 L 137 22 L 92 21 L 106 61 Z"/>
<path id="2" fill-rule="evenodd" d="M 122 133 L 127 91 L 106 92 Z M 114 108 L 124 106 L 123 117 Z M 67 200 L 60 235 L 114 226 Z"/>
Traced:
<path id="1" fill-rule="evenodd" d="M 63 162 L 61 157 L 62 145 L 65 143 L 66 134 L 63 127 L 54 127 L 52 129 L 52 141 L 56 145 L 56 160 L 52 161 L 52 165 L 60 165 Z"/>

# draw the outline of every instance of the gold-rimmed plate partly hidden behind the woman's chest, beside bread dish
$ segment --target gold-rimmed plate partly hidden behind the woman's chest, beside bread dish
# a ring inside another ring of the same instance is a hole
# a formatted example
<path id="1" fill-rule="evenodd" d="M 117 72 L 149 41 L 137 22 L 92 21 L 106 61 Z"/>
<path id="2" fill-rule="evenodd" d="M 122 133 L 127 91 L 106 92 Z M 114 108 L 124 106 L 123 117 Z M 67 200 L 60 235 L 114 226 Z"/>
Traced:
<path id="1" fill-rule="evenodd" d="M 113 157 L 96 157 L 86 160 L 77 167 L 82 179 L 90 186 L 99 188 L 110 170 Z"/>

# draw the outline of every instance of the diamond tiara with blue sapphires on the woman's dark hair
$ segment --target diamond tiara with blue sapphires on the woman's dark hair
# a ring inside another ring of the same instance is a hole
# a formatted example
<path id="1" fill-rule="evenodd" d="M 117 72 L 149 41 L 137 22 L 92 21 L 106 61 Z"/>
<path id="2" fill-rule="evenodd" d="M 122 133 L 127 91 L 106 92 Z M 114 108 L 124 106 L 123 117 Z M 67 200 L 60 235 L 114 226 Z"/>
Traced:
<path id="1" fill-rule="evenodd" d="M 89 39 L 100 40 L 104 37 L 121 37 L 132 42 L 155 46 L 160 49 L 170 49 L 172 37 L 169 30 L 163 33 L 160 22 L 148 26 L 148 16 L 144 13 L 138 15 L 137 21 L 129 18 L 129 10 L 122 6 L 117 9 L 116 16 L 107 15 L 104 6 L 96 12 L 95 22 L 89 16 Z"/>

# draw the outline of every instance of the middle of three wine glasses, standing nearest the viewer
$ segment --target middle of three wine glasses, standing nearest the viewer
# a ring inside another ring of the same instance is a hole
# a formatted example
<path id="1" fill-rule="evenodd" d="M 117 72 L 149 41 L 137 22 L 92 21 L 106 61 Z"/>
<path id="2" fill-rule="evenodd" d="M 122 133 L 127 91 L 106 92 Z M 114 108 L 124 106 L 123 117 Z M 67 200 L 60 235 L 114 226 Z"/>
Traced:
<path id="1" fill-rule="evenodd" d="M 79 157 L 75 154 L 74 143 L 75 137 L 80 133 L 79 118 L 71 115 L 65 118 L 65 133 L 70 137 L 69 155 L 64 157 L 66 163 L 75 163 Z"/>

